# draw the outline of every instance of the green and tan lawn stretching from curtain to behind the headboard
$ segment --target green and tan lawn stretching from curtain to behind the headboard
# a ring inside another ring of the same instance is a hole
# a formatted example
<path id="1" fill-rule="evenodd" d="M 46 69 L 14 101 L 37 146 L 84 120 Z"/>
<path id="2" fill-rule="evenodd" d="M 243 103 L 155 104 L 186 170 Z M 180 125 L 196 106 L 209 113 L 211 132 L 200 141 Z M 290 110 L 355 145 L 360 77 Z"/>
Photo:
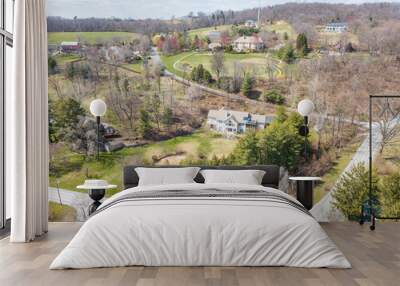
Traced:
<path id="1" fill-rule="evenodd" d="M 168 154 L 169 157 L 157 164 L 179 164 L 183 159 L 198 159 L 199 156 L 211 159 L 214 155 L 221 157 L 231 153 L 235 144 L 235 140 L 225 139 L 212 132 L 200 131 L 188 136 L 103 154 L 100 161 L 86 161 L 83 155 L 72 153 L 63 147 L 57 151 L 52 160 L 58 174 L 55 175 L 53 172 L 50 185 L 55 186 L 58 179 L 61 188 L 76 190 L 76 186 L 89 175 L 90 178 L 102 178 L 118 185 L 118 190 L 111 190 L 108 193 L 111 195 L 122 188 L 122 168 L 125 165 L 152 165 L 155 164 L 154 157 L 160 158 Z"/>

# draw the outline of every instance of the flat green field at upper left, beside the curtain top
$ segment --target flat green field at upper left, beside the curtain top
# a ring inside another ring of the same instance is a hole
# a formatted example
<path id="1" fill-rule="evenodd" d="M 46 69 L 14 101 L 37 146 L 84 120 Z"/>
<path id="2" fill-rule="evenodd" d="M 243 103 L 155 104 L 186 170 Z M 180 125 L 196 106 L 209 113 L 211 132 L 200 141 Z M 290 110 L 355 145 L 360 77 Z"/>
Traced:
<path id="1" fill-rule="evenodd" d="M 49 44 L 60 44 L 63 41 L 78 41 L 95 44 L 97 42 L 110 42 L 113 39 L 131 41 L 139 35 L 129 32 L 50 32 L 48 33 Z"/>

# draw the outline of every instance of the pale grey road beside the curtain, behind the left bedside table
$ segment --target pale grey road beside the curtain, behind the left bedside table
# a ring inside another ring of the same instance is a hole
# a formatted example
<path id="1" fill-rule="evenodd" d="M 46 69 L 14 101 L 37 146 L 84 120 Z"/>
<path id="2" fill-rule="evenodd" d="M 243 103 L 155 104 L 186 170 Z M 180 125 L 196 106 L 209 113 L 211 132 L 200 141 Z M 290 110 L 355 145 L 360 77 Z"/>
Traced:
<path id="1" fill-rule="evenodd" d="M 60 202 L 61 198 L 61 202 Z M 65 189 L 49 187 L 49 201 L 62 203 L 73 207 L 76 210 L 76 220 L 85 221 L 87 218 L 87 208 L 93 202 L 86 193 L 74 192 Z"/>

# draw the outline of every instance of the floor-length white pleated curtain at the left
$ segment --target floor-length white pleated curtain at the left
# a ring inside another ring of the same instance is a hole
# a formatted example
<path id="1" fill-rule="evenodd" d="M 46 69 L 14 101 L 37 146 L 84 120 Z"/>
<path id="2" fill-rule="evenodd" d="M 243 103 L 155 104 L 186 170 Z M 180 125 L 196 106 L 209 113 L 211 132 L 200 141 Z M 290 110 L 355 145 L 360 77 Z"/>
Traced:
<path id="1" fill-rule="evenodd" d="M 6 187 L 12 242 L 47 232 L 48 110 L 46 0 L 17 0 L 13 93 L 6 99 Z"/>

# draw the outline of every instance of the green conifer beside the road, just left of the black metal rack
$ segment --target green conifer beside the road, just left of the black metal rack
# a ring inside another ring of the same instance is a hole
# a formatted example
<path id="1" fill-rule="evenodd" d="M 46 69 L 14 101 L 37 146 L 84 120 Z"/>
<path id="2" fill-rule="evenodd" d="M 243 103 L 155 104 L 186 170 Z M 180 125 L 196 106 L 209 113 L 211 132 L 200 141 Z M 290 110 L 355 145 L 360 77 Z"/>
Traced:
<path id="1" fill-rule="evenodd" d="M 346 172 L 332 192 L 333 206 L 347 218 L 359 217 L 361 206 L 368 199 L 369 172 L 363 163 L 357 164 Z M 376 173 L 372 176 L 372 199 L 376 200 L 379 193 Z"/>

